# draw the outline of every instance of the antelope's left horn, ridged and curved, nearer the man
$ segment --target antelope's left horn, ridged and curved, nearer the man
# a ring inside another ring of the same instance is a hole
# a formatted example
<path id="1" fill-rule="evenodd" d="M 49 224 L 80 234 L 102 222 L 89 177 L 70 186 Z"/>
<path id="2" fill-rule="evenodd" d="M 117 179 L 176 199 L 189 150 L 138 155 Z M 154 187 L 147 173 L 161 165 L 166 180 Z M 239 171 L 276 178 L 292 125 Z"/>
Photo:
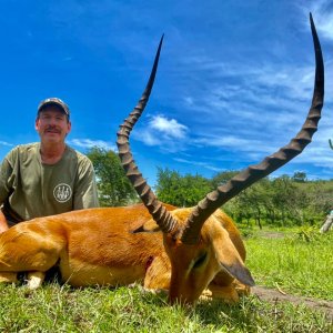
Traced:
<path id="1" fill-rule="evenodd" d="M 124 120 L 123 124 L 120 125 L 120 129 L 117 133 L 118 135 L 117 145 L 119 150 L 121 164 L 127 173 L 127 176 L 133 184 L 137 193 L 140 195 L 142 202 L 149 210 L 150 214 L 153 216 L 154 221 L 160 225 L 163 232 L 168 233 L 171 232 L 174 228 L 176 228 L 176 221 L 167 211 L 167 209 L 162 205 L 162 203 L 157 199 L 151 188 L 147 184 L 145 180 L 142 178 L 142 174 L 139 172 L 139 169 L 135 165 L 133 155 L 131 153 L 131 148 L 129 144 L 130 132 L 132 131 L 138 119 L 141 117 L 154 83 L 162 42 L 163 42 L 163 36 L 161 38 L 157 51 L 154 64 L 151 70 L 151 74 L 147 83 L 145 90 L 141 99 L 139 100 L 138 105 L 130 113 L 130 115 Z"/>

